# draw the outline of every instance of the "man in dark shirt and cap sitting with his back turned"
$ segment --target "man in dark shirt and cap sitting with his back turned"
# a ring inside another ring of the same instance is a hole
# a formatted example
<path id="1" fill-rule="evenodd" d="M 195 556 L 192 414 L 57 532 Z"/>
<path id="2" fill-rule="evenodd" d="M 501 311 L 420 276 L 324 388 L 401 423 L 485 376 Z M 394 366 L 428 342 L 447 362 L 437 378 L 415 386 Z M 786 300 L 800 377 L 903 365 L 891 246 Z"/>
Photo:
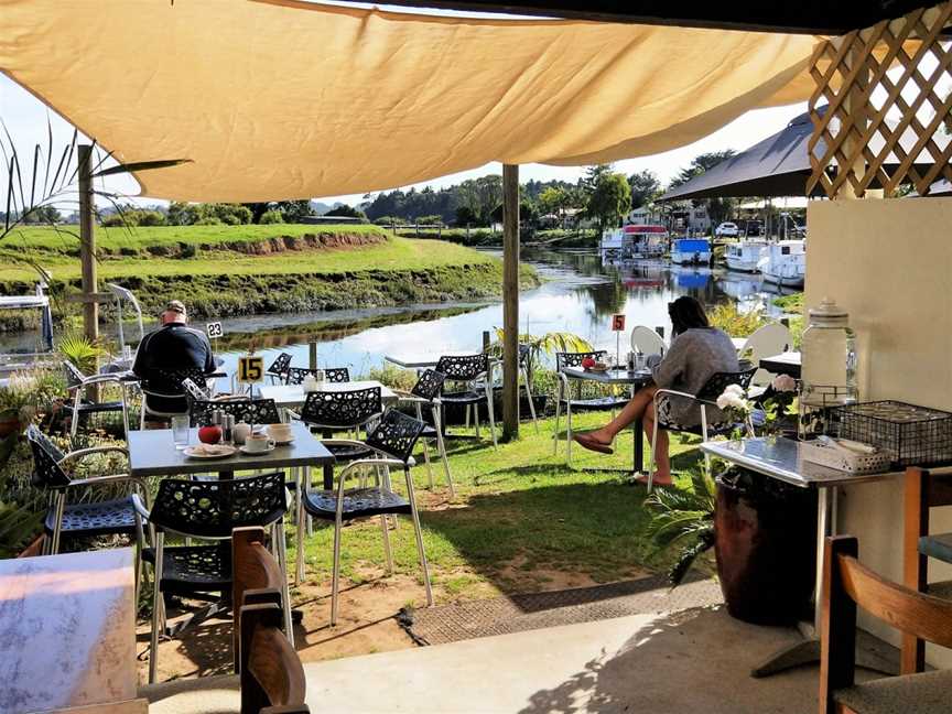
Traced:
<path id="1" fill-rule="evenodd" d="M 185 305 L 178 300 L 170 301 L 159 318 L 162 327 L 142 339 L 132 371 L 150 392 L 149 412 L 184 414 L 188 402 L 182 390 L 181 375 L 188 369 L 205 375 L 214 372 L 212 344 L 205 333 L 187 326 Z"/>

